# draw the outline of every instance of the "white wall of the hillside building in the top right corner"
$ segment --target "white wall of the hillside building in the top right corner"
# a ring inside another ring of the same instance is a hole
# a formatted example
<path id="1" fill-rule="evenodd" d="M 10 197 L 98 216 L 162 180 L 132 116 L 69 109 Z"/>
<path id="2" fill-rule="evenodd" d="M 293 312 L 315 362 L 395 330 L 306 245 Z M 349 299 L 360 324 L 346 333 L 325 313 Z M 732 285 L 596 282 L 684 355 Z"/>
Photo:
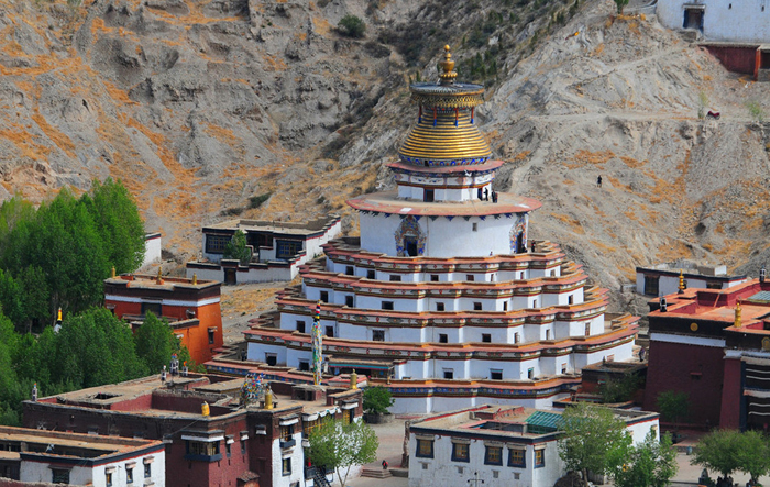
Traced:
<path id="1" fill-rule="evenodd" d="M 656 13 L 660 23 L 680 30 L 684 5 L 695 3 L 705 5 L 703 35 L 708 41 L 770 42 L 770 4 L 765 0 L 659 0 Z"/>

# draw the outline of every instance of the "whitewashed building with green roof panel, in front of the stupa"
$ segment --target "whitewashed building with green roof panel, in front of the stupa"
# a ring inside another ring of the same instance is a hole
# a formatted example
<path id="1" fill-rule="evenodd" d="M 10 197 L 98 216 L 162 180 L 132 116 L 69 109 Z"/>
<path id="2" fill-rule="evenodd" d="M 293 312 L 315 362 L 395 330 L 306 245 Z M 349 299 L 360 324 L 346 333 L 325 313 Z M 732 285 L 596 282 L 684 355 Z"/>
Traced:
<path id="1" fill-rule="evenodd" d="M 659 439 L 658 413 L 614 410 L 635 444 L 650 430 Z M 418 420 L 409 427 L 409 486 L 552 486 L 566 472 L 559 457 L 561 411 L 481 406 Z"/>

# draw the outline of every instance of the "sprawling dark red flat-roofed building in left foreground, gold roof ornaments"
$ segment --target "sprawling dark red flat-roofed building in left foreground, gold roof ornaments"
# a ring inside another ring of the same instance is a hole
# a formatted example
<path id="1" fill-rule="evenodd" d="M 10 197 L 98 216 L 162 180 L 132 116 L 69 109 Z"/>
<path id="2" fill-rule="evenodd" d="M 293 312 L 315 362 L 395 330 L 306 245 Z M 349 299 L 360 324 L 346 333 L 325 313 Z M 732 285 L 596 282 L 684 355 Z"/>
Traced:
<path id="1" fill-rule="evenodd" d="M 162 440 L 169 487 L 323 485 L 302 440 L 322 421 L 362 417 L 361 389 L 271 383 L 240 405 L 244 379 L 151 376 L 25 401 L 28 428 Z M 206 407 L 208 414 L 206 414 Z"/>

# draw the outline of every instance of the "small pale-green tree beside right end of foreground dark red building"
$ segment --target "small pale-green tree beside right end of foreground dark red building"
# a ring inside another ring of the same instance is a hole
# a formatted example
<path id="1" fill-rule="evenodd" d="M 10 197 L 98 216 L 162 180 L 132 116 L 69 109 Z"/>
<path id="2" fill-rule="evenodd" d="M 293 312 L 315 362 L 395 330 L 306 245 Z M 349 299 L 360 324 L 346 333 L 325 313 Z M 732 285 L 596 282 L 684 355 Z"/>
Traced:
<path id="1" fill-rule="evenodd" d="M 310 462 L 333 468 L 342 487 L 345 487 L 350 468 L 374 462 L 380 446 L 374 430 L 363 421 L 350 424 L 343 424 L 342 421 L 328 422 L 312 432 L 309 441 Z"/>

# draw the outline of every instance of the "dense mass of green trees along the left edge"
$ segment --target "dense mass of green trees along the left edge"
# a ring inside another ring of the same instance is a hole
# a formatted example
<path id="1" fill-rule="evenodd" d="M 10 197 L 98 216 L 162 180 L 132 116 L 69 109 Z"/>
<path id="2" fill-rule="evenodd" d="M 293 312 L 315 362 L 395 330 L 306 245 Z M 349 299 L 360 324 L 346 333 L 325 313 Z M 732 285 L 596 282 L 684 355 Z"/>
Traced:
<path id="1" fill-rule="evenodd" d="M 155 374 L 173 353 L 189 361 L 156 317 L 132 334 L 101 307 L 111 267 L 133 272 L 143 257 L 144 223 L 120 181 L 94 181 L 79 198 L 65 188 L 38 208 L 19 196 L 0 206 L 0 423 L 20 423 L 34 384 L 43 397 Z"/>

